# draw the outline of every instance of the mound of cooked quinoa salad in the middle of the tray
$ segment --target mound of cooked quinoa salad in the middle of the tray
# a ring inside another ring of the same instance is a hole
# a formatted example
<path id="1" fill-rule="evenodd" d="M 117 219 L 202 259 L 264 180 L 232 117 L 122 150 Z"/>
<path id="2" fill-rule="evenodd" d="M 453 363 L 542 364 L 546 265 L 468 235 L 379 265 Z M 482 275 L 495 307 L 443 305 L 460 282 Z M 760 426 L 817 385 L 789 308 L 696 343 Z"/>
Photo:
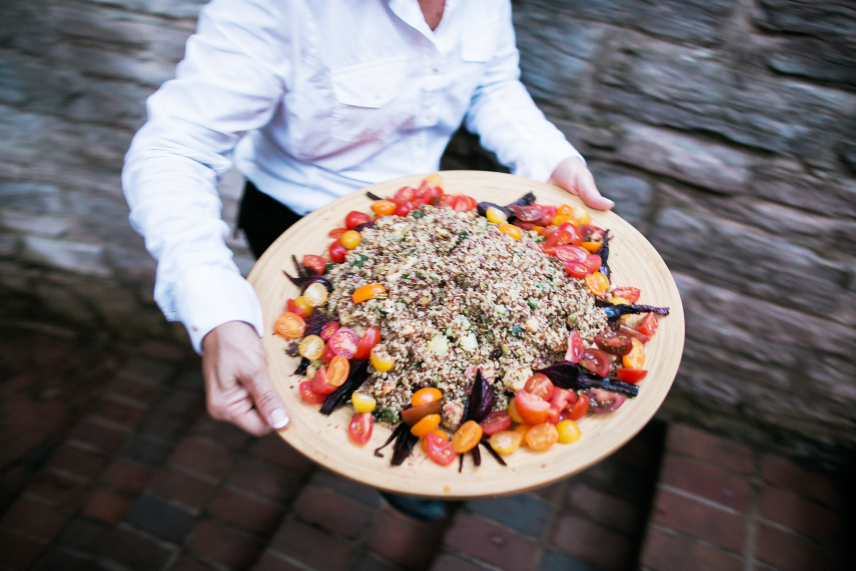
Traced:
<path id="1" fill-rule="evenodd" d="M 571 328 L 586 347 L 606 329 L 585 282 L 542 253 L 534 232 L 519 241 L 475 211 L 425 205 L 360 234 L 330 272 L 327 307 L 360 335 L 376 326 L 395 359 L 389 372 L 372 369 L 360 389 L 377 399 L 378 419 L 395 421 L 414 391 L 434 386 L 443 391 L 443 425 L 455 429 L 477 369 L 494 386 L 498 410 L 533 369 L 564 359 Z M 354 290 L 369 283 L 383 285 L 385 297 L 355 304 Z"/>

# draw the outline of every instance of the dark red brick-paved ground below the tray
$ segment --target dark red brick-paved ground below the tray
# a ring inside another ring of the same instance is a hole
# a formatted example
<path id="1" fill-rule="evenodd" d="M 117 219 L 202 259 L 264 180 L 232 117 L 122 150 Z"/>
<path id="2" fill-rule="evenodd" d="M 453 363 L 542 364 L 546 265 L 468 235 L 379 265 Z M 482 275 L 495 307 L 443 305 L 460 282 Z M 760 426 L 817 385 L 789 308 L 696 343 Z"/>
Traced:
<path id="1" fill-rule="evenodd" d="M 208 418 L 198 360 L 162 343 L 98 349 L 0 330 L 0 407 L 3 571 L 846 564 L 828 479 L 681 425 L 664 455 L 666 428 L 652 424 L 574 478 L 425 524 L 275 435 Z"/>

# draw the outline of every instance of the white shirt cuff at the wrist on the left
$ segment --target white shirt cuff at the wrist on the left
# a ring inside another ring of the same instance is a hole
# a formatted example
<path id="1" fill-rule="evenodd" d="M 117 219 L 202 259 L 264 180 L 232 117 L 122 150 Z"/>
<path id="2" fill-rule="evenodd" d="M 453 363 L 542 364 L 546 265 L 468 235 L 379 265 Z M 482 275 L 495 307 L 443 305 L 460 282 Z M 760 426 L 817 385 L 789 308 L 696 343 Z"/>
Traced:
<path id="1" fill-rule="evenodd" d="M 202 353 L 202 339 L 228 321 L 253 325 L 264 336 L 262 306 L 255 289 L 235 271 L 203 265 L 181 272 L 175 283 L 175 309 L 187 327 L 193 349 Z"/>

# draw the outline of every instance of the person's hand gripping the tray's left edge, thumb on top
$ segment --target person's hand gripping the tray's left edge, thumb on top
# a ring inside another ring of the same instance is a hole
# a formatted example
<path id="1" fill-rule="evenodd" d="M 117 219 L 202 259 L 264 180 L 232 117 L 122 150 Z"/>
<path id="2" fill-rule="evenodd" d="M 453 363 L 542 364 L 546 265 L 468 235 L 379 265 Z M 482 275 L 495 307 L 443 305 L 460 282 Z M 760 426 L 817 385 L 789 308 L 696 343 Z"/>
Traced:
<path id="1" fill-rule="evenodd" d="M 288 425 L 288 413 L 267 374 L 267 355 L 253 326 L 217 325 L 202 339 L 208 413 L 254 436 Z"/>

